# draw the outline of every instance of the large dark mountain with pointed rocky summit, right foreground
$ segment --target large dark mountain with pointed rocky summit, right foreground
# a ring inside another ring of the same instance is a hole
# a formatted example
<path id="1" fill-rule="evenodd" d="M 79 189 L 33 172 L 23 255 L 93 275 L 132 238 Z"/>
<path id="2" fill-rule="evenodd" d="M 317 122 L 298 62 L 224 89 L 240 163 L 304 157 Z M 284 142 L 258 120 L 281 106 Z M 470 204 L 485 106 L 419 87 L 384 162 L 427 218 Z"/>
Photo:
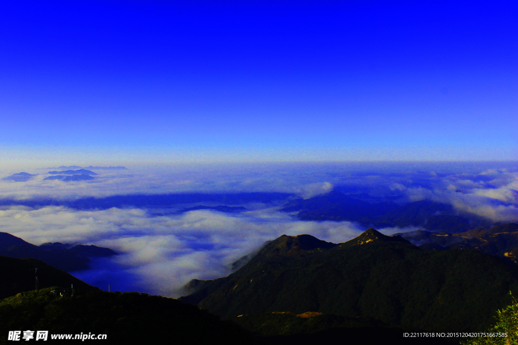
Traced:
<path id="1" fill-rule="evenodd" d="M 182 299 L 224 318 L 320 312 L 409 331 L 474 332 L 490 325 L 518 288 L 514 265 L 469 249 L 425 251 L 369 229 L 290 256 L 287 239 L 297 237 L 279 237 L 234 274 Z"/>

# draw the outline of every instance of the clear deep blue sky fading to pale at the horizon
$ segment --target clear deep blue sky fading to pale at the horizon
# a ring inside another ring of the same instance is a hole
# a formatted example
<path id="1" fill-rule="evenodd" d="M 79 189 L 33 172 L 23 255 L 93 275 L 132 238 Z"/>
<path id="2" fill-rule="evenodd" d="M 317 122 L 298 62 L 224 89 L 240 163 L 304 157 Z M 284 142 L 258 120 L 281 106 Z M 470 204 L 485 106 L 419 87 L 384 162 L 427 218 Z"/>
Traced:
<path id="1" fill-rule="evenodd" d="M 4 162 L 515 160 L 516 1 L 0 5 Z"/>

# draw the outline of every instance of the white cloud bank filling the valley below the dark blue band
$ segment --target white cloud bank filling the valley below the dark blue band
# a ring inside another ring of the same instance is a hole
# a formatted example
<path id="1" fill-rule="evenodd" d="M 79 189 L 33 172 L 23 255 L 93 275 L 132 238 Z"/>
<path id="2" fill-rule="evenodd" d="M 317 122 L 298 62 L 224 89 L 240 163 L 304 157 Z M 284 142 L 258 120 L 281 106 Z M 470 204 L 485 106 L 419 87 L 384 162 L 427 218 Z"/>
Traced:
<path id="1" fill-rule="evenodd" d="M 97 274 L 83 272 L 77 276 L 95 282 L 99 275 L 109 275 L 110 265 L 116 264 L 113 269 L 127 276 L 118 278 L 125 284 L 122 287 L 112 279 L 112 289 L 133 287 L 168 296 L 177 296 L 178 289 L 192 278 L 227 275 L 232 262 L 282 234 L 311 234 L 338 243 L 362 231 L 350 222 L 296 221 L 273 208 L 240 215 L 191 211 L 150 216 L 136 208 L 75 211 L 62 206 L 15 206 L 0 211 L 0 222 L 1 231 L 37 245 L 66 242 L 112 248 L 121 255 L 99 264 Z M 131 284 L 124 281 L 129 276 L 133 277 Z"/>

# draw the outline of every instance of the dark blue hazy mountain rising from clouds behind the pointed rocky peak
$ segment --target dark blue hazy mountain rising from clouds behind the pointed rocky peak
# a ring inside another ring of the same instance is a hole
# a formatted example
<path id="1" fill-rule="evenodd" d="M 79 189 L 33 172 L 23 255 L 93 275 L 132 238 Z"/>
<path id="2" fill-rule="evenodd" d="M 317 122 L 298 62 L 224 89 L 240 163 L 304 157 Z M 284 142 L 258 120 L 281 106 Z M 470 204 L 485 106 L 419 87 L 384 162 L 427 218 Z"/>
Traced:
<path id="1" fill-rule="evenodd" d="M 367 194 L 362 195 L 362 198 L 367 197 Z M 296 216 L 300 220 L 349 220 L 377 228 L 418 226 L 449 233 L 464 232 L 471 228 L 470 220 L 455 215 L 455 210 L 448 204 L 428 200 L 402 206 L 392 201 L 370 203 L 339 191 L 289 201 L 280 211 L 297 212 Z M 473 220 L 483 222 L 482 219 Z"/>

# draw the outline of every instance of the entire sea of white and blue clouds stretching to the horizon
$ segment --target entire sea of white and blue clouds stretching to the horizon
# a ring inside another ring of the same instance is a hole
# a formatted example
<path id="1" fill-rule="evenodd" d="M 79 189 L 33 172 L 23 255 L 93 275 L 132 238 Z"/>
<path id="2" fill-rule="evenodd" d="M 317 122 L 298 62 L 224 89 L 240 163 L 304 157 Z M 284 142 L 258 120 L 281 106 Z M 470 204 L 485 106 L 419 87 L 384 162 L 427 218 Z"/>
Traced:
<path id="1" fill-rule="evenodd" d="M 39 245 L 45 242 L 93 244 L 120 254 L 97 259 L 93 269 L 74 274 L 107 289 L 177 297 L 190 279 L 213 279 L 231 273 L 231 264 L 282 234 L 311 234 L 328 242 L 348 241 L 365 229 L 342 221 L 300 221 L 279 212 L 285 200 L 249 202 L 246 211 L 221 213 L 183 207 L 108 207 L 74 209 L 59 201 L 79 198 L 164 193 L 283 192 L 292 198 L 336 189 L 368 193 L 373 201 L 398 204 L 418 200 L 444 202 L 459 214 L 493 222 L 518 219 L 517 163 L 276 163 L 134 166 L 96 171 L 92 182 L 43 181 L 47 171 L 27 182 L 0 180 L 0 231 Z M 20 171 L 1 171 L 8 176 Z M 24 206 L 52 199 L 57 204 Z M 232 206 L 237 206 L 233 204 Z M 379 229 L 385 234 L 418 228 Z"/>

